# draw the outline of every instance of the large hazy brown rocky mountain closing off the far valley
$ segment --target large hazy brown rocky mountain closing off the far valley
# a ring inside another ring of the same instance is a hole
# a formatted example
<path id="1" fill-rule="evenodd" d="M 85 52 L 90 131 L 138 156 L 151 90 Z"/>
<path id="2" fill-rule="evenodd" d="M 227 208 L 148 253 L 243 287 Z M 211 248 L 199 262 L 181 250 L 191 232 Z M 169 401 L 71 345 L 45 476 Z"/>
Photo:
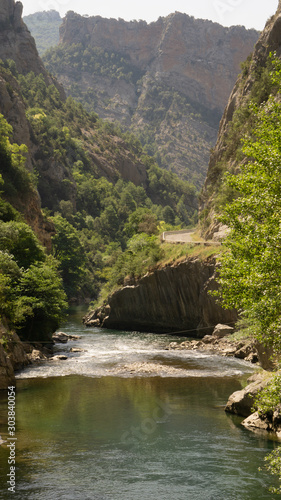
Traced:
<path id="1" fill-rule="evenodd" d="M 67 59 L 53 64 L 47 56 L 45 62 L 68 93 L 149 142 L 161 166 L 202 187 L 240 62 L 257 38 L 255 30 L 224 28 L 179 12 L 151 24 L 68 12 L 60 28 L 60 55 L 77 44 L 82 52 L 101 49 L 109 54 L 107 61 L 114 54 L 119 62 L 114 60 L 108 75 L 90 63 L 75 72 Z M 118 65 L 121 74 L 114 73 Z"/>

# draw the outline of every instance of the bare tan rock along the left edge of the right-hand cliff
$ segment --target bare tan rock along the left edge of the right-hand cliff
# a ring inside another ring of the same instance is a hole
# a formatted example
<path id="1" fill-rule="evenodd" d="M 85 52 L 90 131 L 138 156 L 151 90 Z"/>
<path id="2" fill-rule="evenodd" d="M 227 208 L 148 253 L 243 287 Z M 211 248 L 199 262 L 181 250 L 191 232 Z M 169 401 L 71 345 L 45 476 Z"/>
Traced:
<path id="1" fill-rule="evenodd" d="M 222 172 L 225 170 L 235 172 L 241 163 L 241 155 L 237 160 L 237 150 L 241 144 L 239 138 L 235 146 L 227 142 L 235 112 L 241 110 L 249 100 L 253 85 L 258 79 L 257 75 L 265 68 L 270 52 L 276 51 L 277 56 L 281 57 L 280 28 L 281 2 L 279 1 L 276 14 L 267 22 L 249 58 L 248 69 L 244 74 L 239 75 L 234 85 L 220 123 L 217 143 L 211 153 L 200 202 L 202 234 L 206 239 L 216 239 L 216 235 L 219 237 L 222 229 L 215 216 L 215 203 L 221 191 Z M 249 117 L 249 122 L 250 119 L 251 117 Z M 247 131 L 247 123 L 246 121 L 243 133 Z"/>

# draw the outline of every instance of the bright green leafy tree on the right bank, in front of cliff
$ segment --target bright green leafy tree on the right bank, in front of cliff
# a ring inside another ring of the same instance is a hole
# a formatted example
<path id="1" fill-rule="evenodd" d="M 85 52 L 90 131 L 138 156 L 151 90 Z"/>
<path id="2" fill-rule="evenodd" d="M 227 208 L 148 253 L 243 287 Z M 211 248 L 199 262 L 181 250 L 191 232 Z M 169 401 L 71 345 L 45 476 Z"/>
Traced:
<path id="1" fill-rule="evenodd" d="M 281 88 L 281 63 L 275 62 L 272 84 Z M 230 228 L 219 282 L 225 306 L 247 312 L 259 325 L 257 334 L 281 347 L 281 104 L 251 106 L 254 135 L 244 138 L 247 162 L 225 182 L 236 198 L 225 206 L 221 222 Z"/>

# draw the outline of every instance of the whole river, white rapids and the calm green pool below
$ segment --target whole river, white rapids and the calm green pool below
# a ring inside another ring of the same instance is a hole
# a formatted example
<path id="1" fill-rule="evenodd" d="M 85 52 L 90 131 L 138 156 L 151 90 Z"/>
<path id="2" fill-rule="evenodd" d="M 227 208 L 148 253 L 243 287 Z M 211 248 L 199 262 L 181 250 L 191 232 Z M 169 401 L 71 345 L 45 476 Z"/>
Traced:
<path id="1" fill-rule="evenodd" d="M 278 443 L 223 410 L 252 365 L 166 350 L 177 340 L 171 336 L 87 330 L 75 318 L 62 330 L 82 335 L 57 345 L 68 359 L 17 375 L 16 488 L 8 491 L 6 441 L 1 499 L 275 498 L 272 478 L 259 468 Z M 5 441 L 4 391 L 0 434 Z"/>

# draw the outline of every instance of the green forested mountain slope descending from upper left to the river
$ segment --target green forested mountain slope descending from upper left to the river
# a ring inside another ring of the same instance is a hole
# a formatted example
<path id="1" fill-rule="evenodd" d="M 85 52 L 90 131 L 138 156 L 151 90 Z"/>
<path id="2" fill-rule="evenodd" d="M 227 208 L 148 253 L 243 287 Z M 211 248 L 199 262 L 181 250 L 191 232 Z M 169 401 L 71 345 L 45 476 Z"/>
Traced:
<path id="1" fill-rule="evenodd" d="M 14 166 L 12 157 L 0 163 L 0 220 L 19 217 L 10 205 L 19 211 L 57 257 L 68 297 L 96 298 L 131 238 L 146 233 L 135 247 L 147 246 L 155 260 L 160 221 L 194 224 L 196 191 L 161 170 L 134 136 L 66 98 L 45 70 L 16 6 L 9 0 L 2 11 L 0 36 L 8 49 L 7 56 L 1 49 L 0 118 L 8 150 L 20 154 Z"/>

